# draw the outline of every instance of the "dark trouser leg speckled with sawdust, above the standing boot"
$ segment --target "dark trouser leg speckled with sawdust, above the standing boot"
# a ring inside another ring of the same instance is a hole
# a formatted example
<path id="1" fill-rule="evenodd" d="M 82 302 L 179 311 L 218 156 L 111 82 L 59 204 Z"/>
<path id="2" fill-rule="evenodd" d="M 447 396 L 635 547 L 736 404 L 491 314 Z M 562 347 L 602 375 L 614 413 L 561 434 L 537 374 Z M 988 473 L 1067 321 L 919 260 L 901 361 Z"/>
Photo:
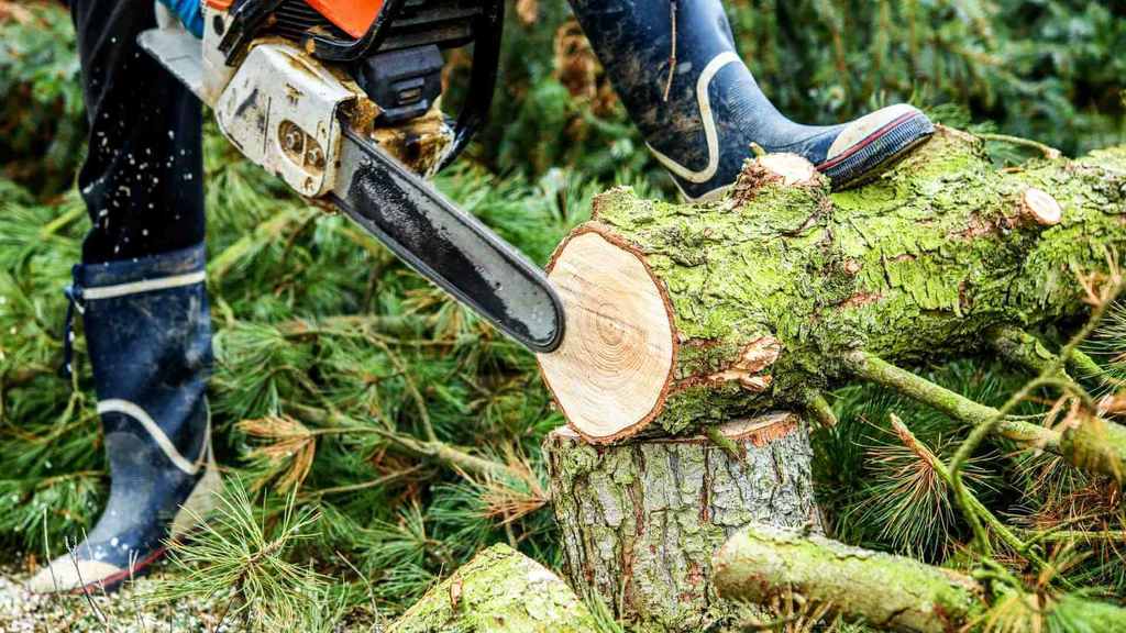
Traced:
<path id="1" fill-rule="evenodd" d="M 90 122 L 79 188 L 93 229 L 82 261 L 140 258 L 204 239 L 199 101 L 136 44 L 153 0 L 70 0 Z"/>

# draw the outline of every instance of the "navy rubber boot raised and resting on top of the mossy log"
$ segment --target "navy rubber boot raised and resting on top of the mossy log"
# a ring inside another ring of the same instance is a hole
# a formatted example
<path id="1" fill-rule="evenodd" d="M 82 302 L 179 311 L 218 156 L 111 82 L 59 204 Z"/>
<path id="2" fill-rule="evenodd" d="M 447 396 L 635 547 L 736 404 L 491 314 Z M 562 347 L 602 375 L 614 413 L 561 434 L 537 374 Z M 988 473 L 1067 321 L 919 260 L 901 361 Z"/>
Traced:
<path id="1" fill-rule="evenodd" d="M 789 121 L 739 59 L 720 0 L 571 6 L 650 150 L 690 199 L 730 187 L 751 143 L 806 158 L 841 189 L 877 176 L 933 133 L 930 119 L 908 105 L 842 125 Z"/>

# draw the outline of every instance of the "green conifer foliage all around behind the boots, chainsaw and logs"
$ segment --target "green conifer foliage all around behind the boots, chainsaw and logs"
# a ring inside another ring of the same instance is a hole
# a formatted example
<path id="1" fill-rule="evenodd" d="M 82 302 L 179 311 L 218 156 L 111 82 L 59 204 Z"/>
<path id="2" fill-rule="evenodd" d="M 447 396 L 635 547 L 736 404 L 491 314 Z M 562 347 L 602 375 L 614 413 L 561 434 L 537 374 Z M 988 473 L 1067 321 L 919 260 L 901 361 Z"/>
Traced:
<path id="1" fill-rule="evenodd" d="M 744 59 L 794 118 L 831 122 L 912 100 L 942 122 L 1071 154 L 1126 141 L 1120 2 L 727 7 Z M 83 141 L 73 48 L 61 7 L 0 1 L 0 545 L 8 562 L 61 552 L 97 518 L 108 483 L 84 359 L 73 384 L 55 374 L 61 289 L 87 228 L 71 190 Z M 454 54 L 447 72 L 455 99 L 464 62 Z M 584 220 L 601 188 L 633 184 L 671 196 L 564 3 L 510 5 L 501 81 L 493 125 L 438 186 L 534 260 L 545 261 Z M 1026 158 L 1009 145 L 991 150 L 999 163 Z M 539 444 L 562 419 L 534 358 L 348 222 L 242 161 L 213 131 L 206 162 L 217 357 L 211 401 L 221 461 L 238 482 L 216 529 L 271 555 L 261 569 L 202 573 L 198 585 L 180 587 L 233 587 L 242 591 L 235 603 L 259 609 L 250 615 L 263 623 L 287 613 L 330 622 L 394 615 L 494 542 L 557 567 Z M 1119 374 L 1124 330 L 1126 312 L 1114 310 L 1088 344 Z M 993 405 L 1025 380 L 990 362 L 935 367 L 930 377 Z M 877 389 L 842 390 L 834 405 L 841 424 L 815 438 L 831 533 L 936 564 L 976 564 L 950 491 L 902 445 L 888 414 L 910 420 L 945 457 L 966 429 Z M 1030 538 L 1058 527 L 1126 529 L 1116 487 L 1045 455 L 990 440 L 965 476 Z M 1126 541 L 1066 543 L 1044 538 L 1045 555 L 1066 564 L 1035 582 L 1126 595 Z M 207 554 L 181 552 L 179 561 L 195 569 L 235 555 Z M 280 585 L 249 596 L 257 587 L 249 580 L 259 578 Z"/>

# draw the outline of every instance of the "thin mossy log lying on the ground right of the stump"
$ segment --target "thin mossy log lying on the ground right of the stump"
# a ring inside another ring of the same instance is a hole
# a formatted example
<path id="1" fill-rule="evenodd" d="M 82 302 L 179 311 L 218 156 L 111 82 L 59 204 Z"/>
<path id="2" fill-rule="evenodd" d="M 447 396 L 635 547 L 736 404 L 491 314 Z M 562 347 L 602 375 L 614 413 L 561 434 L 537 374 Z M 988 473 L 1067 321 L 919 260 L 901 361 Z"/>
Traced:
<path id="1" fill-rule="evenodd" d="M 771 526 L 752 526 L 734 535 L 716 552 L 713 564 L 714 582 L 724 598 L 769 604 L 797 595 L 804 604 L 828 605 L 831 615 L 888 631 L 984 630 L 986 599 L 1006 599 L 986 596 L 976 580 L 953 570 Z M 1009 626 L 992 624 L 999 630 L 1046 631 L 1056 616 L 1081 623 L 1084 631 L 1126 631 L 1126 610 L 1075 597 L 1022 603 L 1009 610 Z M 1022 622 L 1015 624 L 1013 617 Z"/>

